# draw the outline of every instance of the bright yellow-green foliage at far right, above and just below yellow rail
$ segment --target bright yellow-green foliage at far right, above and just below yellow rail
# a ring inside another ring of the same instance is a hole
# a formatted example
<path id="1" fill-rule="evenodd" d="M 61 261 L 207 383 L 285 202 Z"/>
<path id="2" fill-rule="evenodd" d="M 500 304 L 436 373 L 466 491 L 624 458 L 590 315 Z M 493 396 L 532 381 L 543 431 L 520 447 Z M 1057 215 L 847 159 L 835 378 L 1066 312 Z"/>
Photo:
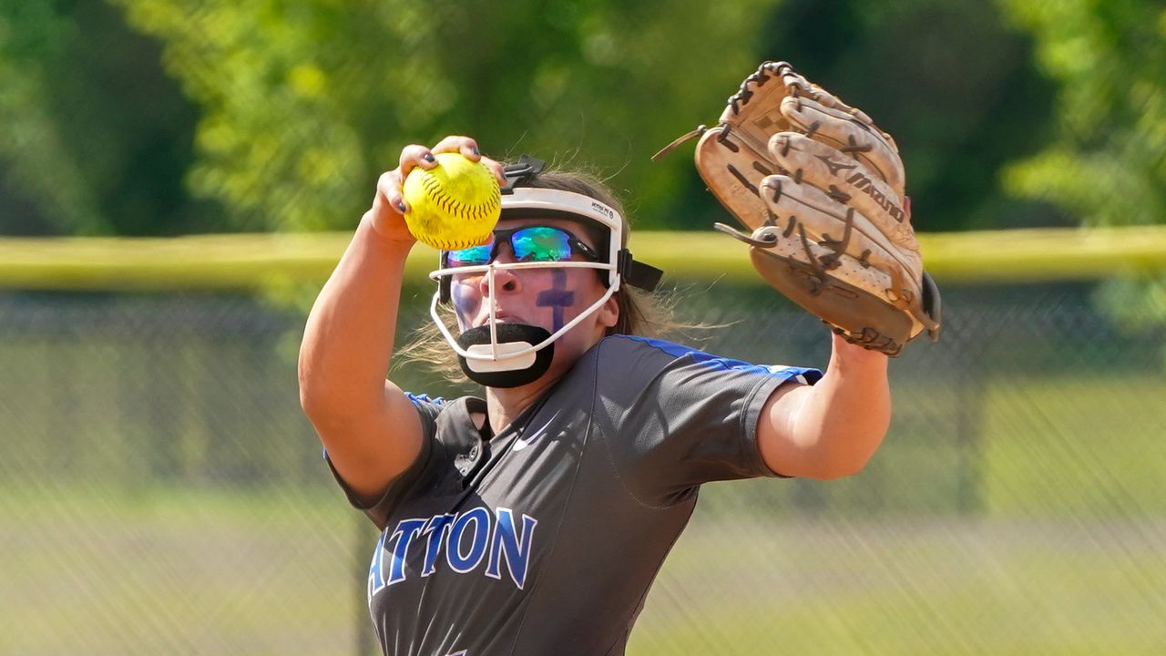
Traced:
<path id="1" fill-rule="evenodd" d="M 1060 83 L 1055 141 L 1010 166 L 1007 188 L 1087 225 L 1166 223 L 1166 7 L 999 1 L 1035 36 L 1039 65 Z M 1111 280 L 1098 299 L 1130 329 L 1166 324 L 1166 277 Z"/>

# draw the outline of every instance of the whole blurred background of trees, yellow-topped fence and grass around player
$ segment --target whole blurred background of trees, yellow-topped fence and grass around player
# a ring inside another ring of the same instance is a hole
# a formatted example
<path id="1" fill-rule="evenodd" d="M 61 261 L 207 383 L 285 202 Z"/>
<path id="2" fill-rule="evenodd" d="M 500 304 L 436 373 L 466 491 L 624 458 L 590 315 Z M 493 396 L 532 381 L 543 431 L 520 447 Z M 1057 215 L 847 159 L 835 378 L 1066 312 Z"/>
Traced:
<path id="1" fill-rule="evenodd" d="M 0 656 L 373 652 L 374 536 L 295 361 L 407 144 L 596 174 L 681 319 L 726 324 L 686 340 L 824 364 L 691 151 L 649 159 L 766 60 L 894 135 L 944 335 L 861 475 L 702 490 L 632 655 L 1166 654 L 1161 2 L 17 0 Z"/>

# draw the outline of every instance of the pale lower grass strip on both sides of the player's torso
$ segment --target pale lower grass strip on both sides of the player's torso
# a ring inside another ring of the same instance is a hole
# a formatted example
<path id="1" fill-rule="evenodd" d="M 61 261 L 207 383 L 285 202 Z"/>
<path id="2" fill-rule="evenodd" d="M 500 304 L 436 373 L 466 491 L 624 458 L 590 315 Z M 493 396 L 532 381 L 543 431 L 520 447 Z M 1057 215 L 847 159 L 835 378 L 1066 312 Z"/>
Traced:
<path id="1" fill-rule="evenodd" d="M 723 512 L 731 488 L 705 490 L 630 654 L 1166 647 L 1166 521 L 745 521 Z M 62 512 L 52 495 L 5 490 L 0 652 L 354 652 L 359 529 L 329 490 L 69 491 Z"/>

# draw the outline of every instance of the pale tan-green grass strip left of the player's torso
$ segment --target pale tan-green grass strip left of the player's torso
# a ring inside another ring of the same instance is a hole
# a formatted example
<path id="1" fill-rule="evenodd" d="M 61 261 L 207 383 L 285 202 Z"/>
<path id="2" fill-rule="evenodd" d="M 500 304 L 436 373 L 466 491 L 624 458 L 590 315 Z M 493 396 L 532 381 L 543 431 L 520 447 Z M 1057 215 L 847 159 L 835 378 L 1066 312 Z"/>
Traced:
<path id="1" fill-rule="evenodd" d="M 352 654 L 361 526 L 330 491 L 6 488 L 0 654 Z"/>

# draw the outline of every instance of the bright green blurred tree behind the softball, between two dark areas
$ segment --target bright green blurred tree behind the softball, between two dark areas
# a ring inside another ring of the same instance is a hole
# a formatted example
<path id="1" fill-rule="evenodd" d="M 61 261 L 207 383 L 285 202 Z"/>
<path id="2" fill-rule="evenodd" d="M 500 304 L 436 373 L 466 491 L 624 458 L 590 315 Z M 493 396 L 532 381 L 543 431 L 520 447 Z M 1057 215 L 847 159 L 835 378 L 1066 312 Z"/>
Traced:
<path id="1" fill-rule="evenodd" d="M 247 230 L 349 228 L 402 146 L 445 133 L 592 163 L 641 225 L 677 226 L 690 160 L 648 158 L 719 116 L 773 5 L 114 1 L 202 109 L 192 189 Z"/>

